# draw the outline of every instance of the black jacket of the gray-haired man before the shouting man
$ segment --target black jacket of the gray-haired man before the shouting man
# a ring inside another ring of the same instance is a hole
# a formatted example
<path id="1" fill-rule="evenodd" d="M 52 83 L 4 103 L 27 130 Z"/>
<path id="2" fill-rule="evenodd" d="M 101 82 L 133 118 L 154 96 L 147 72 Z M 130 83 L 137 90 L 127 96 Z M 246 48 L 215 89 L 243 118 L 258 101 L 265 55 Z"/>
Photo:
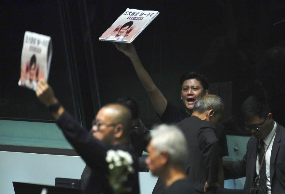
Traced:
<path id="1" fill-rule="evenodd" d="M 221 147 L 215 125 L 191 116 L 177 124 L 183 131 L 189 149 L 186 173 L 194 189 L 203 192 L 205 182 L 218 182 Z"/>

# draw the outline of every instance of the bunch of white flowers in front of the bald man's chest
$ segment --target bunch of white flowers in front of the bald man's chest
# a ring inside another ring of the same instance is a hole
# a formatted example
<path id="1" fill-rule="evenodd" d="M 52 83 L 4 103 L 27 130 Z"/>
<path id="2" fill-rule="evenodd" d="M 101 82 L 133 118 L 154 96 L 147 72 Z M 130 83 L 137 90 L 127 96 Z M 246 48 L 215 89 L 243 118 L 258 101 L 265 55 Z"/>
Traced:
<path id="1" fill-rule="evenodd" d="M 123 186 L 124 182 L 128 180 L 128 175 L 134 173 L 132 156 L 123 150 L 109 150 L 106 161 L 109 168 L 109 184 L 113 188 L 114 194 L 132 191 L 131 187 Z"/>

